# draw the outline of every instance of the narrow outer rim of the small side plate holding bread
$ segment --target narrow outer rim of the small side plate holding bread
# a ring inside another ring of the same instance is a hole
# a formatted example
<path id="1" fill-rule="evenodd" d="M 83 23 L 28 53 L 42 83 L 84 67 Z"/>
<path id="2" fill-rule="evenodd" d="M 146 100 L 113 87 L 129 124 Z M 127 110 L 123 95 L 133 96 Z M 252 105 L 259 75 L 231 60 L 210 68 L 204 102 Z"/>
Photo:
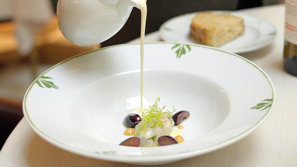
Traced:
<path id="1" fill-rule="evenodd" d="M 241 13 L 241 12 L 238 12 L 238 11 L 231 11 L 231 10 L 206 10 L 206 11 L 199 11 L 199 12 L 191 12 L 191 13 L 185 13 L 185 14 L 182 14 L 182 15 L 178 15 L 178 16 L 175 16 L 173 18 L 170 18 L 169 20 L 165 21 L 164 23 L 162 23 L 162 25 L 160 26 L 159 28 L 159 35 L 160 35 L 160 38 L 164 41 L 164 42 L 174 42 L 174 41 L 170 41 L 167 39 L 167 37 L 164 35 L 164 27 L 166 26 L 167 23 L 169 23 L 170 21 L 173 21 L 174 19 L 176 18 L 180 18 L 180 17 L 185 17 L 187 15 L 194 15 L 194 14 L 198 14 L 198 13 L 201 13 L 201 12 L 227 12 L 227 13 L 231 13 L 232 14 L 238 14 L 238 15 L 244 15 L 244 16 L 247 16 L 247 17 L 252 17 L 252 18 L 256 18 L 258 20 L 261 20 L 261 21 L 265 21 L 266 23 L 268 23 L 269 25 L 271 25 L 271 27 L 273 27 L 274 31 L 275 31 L 275 34 L 273 35 L 273 37 L 271 38 L 271 40 L 268 40 L 266 43 L 263 43 L 261 45 L 256 45 L 254 47 L 249 47 L 249 48 L 243 48 L 243 49 L 232 49 L 228 52 L 232 52 L 232 53 L 236 53 L 236 54 L 239 54 L 239 53 L 248 53 L 248 52 L 252 52 L 252 51 L 256 51 L 258 49 L 261 49 L 261 48 L 264 48 L 268 45 L 270 45 L 276 38 L 277 36 L 277 28 L 276 26 L 271 23 L 270 21 L 268 21 L 267 19 L 265 18 L 261 18 L 261 17 L 258 17 L 258 16 L 255 16 L 255 15 L 250 15 L 250 14 L 245 14 L 245 13 Z M 179 41 L 176 41 L 176 42 L 179 42 Z M 187 42 L 186 42 L 187 43 Z M 193 43 L 193 44 L 198 44 L 198 43 Z M 198 44 L 198 45 L 202 45 L 202 44 Z"/>

